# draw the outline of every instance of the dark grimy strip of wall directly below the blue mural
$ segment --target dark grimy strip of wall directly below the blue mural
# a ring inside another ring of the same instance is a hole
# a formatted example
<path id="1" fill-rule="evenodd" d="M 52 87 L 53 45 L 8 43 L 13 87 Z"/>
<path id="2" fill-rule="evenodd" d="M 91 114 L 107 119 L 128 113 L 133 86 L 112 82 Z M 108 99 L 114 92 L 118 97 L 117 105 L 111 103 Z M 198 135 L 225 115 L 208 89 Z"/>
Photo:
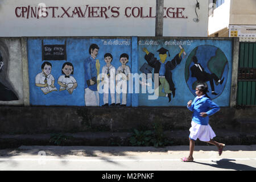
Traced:
<path id="1" fill-rule="evenodd" d="M 134 129 L 188 131 L 192 112 L 185 107 L 56 107 L 0 106 L 1 134 L 110 132 L 127 134 Z M 256 108 L 221 107 L 210 118 L 214 130 L 255 133 Z"/>

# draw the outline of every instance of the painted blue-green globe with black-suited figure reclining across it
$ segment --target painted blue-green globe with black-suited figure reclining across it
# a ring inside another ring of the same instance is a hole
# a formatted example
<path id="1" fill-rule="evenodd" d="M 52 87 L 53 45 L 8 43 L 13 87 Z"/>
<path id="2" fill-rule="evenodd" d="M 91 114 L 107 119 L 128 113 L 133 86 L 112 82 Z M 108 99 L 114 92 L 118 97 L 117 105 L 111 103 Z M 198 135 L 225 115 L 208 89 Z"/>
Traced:
<path id="1" fill-rule="evenodd" d="M 196 96 L 196 85 L 208 86 L 208 96 L 213 100 L 221 95 L 228 78 L 228 60 L 215 46 L 198 46 L 189 54 L 185 63 L 185 82 Z"/>

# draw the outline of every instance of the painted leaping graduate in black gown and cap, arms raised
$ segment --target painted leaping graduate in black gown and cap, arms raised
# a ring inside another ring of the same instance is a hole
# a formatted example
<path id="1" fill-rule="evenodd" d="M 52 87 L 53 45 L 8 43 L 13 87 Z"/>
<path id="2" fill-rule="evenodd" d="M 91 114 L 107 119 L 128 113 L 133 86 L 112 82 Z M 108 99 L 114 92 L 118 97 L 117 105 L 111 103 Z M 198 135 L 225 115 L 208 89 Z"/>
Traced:
<path id="1" fill-rule="evenodd" d="M 168 97 L 169 102 L 171 101 L 171 93 L 172 97 L 175 97 L 175 85 L 172 81 L 172 69 L 176 68 L 178 64 L 181 62 L 181 55 L 184 52 L 182 48 L 180 53 L 174 57 L 174 59 L 170 61 L 166 61 L 167 53 L 170 57 L 170 51 L 165 48 L 160 48 L 157 52 L 159 52 L 160 60 L 155 57 L 155 55 L 151 52 L 148 52 L 146 48 L 143 48 L 143 51 L 146 52 L 144 59 L 147 61 L 148 65 L 154 68 L 154 73 L 159 74 L 159 92 L 156 95 L 160 97 Z M 155 88 L 156 89 L 156 88 Z M 164 90 L 164 92 L 162 92 Z"/>

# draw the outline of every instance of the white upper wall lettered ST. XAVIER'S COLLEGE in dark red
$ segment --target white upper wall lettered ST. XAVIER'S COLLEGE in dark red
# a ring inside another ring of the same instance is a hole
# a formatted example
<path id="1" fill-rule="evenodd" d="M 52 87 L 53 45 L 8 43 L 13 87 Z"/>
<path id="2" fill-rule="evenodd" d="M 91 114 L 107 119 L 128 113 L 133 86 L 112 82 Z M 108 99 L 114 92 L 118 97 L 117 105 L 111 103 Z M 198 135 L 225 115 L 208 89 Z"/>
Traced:
<path id="1" fill-rule="evenodd" d="M 35 10 L 35 7 L 42 2 L 46 4 L 46 7 L 51 7 L 47 9 L 48 16 L 31 18 L 31 7 Z M 177 11 L 177 8 L 180 8 L 178 15 L 183 18 L 164 18 L 163 36 L 207 36 L 208 1 L 199 0 L 199 2 L 200 10 L 197 12 L 200 21 L 196 23 L 193 22 L 193 18 L 196 18 L 196 0 L 164 0 L 164 7 L 167 9 L 174 7 Z M 151 16 L 155 16 L 155 4 L 156 0 L 0 0 L 0 36 L 155 36 L 155 18 L 144 17 L 149 17 L 150 11 Z M 88 5 L 87 10 L 89 8 L 92 10 L 93 6 L 96 7 L 94 15 L 100 18 L 88 18 L 88 14 L 85 18 L 79 18 L 81 14 L 77 13 L 78 7 L 83 13 L 86 5 Z M 28 6 L 30 6 L 30 11 L 28 11 L 30 14 L 24 12 Z M 58 7 L 58 9 L 53 7 Z M 72 11 L 77 14 L 69 18 L 61 7 L 65 10 L 71 7 L 67 11 L 70 16 L 73 14 Z M 138 14 L 138 7 L 139 10 L 142 7 L 143 17 L 130 16 L 128 18 L 133 7 L 135 7 L 133 11 L 135 16 Z M 104 11 L 100 13 L 100 10 L 105 10 L 105 8 L 107 9 L 105 13 Z M 127 16 L 125 10 L 127 10 Z M 63 18 L 61 18 L 62 15 Z M 172 13 L 170 12 L 169 15 L 172 16 Z"/>

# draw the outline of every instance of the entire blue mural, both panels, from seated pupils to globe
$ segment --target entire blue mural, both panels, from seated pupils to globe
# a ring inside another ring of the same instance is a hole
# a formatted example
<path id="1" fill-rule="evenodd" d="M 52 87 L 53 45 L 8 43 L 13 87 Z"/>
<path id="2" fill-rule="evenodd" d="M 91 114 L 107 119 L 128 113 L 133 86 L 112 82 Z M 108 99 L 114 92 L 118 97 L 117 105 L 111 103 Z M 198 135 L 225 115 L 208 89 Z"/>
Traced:
<path id="1" fill-rule="evenodd" d="M 30 38 L 28 68 L 31 105 L 185 106 L 205 82 L 229 106 L 232 41 Z"/>

